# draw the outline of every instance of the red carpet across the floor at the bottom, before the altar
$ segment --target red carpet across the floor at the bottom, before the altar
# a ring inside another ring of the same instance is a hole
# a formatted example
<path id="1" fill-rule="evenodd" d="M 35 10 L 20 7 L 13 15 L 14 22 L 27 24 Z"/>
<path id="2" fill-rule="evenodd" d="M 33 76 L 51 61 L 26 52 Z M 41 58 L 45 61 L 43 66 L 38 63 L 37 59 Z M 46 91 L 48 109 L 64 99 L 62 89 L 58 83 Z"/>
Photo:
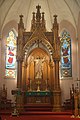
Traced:
<path id="1" fill-rule="evenodd" d="M 1 114 L 2 120 L 80 120 L 71 116 L 71 112 L 24 112 L 19 116 L 7 112 Z"/>

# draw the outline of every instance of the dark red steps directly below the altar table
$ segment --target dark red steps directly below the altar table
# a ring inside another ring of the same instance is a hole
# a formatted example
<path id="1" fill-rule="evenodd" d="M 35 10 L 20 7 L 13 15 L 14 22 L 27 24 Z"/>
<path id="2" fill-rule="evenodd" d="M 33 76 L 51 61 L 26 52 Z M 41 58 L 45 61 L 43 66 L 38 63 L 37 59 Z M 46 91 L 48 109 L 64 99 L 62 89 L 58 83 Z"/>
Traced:
<path id="1" fill-rule="evenodd" d="M 52 111 L 50 104 L 28 104 L 25 106 L 25 111 Z"/>

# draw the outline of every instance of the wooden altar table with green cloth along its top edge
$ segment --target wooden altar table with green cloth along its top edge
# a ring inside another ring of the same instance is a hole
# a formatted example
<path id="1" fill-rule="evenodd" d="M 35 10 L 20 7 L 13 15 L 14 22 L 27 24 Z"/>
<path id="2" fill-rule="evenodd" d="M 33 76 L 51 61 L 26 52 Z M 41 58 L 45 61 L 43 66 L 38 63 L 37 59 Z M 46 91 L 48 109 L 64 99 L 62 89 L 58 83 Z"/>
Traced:
<path id="1" fill-rule="evenodd" d="M 51 92 L 46 91 L 32 91 L 26 92 L 26 102 L 27 103 L 51 103 Z"/>

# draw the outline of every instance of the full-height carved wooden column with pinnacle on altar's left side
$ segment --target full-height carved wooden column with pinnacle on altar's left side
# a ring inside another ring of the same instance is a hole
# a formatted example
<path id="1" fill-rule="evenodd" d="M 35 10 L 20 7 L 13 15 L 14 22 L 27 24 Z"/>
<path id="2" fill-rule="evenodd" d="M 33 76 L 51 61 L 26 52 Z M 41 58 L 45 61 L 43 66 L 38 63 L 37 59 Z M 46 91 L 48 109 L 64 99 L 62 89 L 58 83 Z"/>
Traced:
<path id="1" fill-rule="evenodd" d="M 17 93 L 16 93 L 16 105 L 17 109 L 20 111 L 23 107 L 24 95 L 22 93 L 22 63 L 23 63 L 23 32 L 24 23 L 23 15 L 20 15 L 20 22 L 18 24 L 18 38 L 17 38 Z"/>

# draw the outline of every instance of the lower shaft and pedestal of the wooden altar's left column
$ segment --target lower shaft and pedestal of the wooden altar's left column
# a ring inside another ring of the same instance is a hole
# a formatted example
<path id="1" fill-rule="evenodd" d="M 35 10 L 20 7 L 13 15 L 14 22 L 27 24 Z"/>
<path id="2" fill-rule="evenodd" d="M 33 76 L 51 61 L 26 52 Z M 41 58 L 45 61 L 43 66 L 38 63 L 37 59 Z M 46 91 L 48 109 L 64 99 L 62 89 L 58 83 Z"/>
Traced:
<path id="1" fill-rule="evenodd" d="M 17 93 L 16 93 L 16 108 L 20 112 L 23 108 L 22 95 L 22 59 L 17 58 Z"/>

